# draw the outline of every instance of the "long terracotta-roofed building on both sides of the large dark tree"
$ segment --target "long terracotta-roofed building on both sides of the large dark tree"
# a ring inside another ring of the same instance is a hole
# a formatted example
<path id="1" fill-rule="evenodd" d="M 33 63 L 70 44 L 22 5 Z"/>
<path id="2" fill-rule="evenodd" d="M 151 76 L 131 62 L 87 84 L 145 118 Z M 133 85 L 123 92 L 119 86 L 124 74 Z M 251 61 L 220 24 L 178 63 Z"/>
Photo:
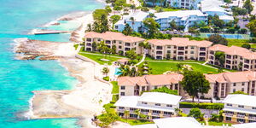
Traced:
<path id="1" fill-rule="evenodd" d="M 223 99 L 238 90 L 251 96 L 256 95 L 256 72 L 205 74 L 205 76 L 211 87 L 207 94 L 201 95 L 206 98 Z M 179 84 L 182 79 L 183 75 L 178 73 L 146 75 L 143 77 L 120 77 L 118 79 L 119 96 L 139 96 L 145 90 L 154 90 L 163 86 L 171 90 L 177 90 L 180 96 L 187 96 Z"/>

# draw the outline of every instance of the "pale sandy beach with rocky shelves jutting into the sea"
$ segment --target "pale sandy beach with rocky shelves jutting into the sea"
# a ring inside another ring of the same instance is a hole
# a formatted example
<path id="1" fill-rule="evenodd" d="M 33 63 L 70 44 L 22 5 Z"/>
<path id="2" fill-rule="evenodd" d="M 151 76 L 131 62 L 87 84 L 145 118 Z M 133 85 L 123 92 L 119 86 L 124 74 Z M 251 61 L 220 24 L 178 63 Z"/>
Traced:
<path id="1" fill-rule="evenodd" d="M 18 53 L 16 59 L 30 60 L 27 56 L 35 56 L 32 59 L 39 57 L 39 59 L 57 60 L 71 76 L 78 79 L 79 84 L 76 84 L 73 90 L 34 90 L 34 96 L 30 101 L 31 109 L 26 115 L 29 115 L 30 119 L 78 118 L 78 123 L 82 127 L 95 127 L 90 119 L 94 115 L 101 114 L 102 106 L 111 101 L 112 84 L 97 79 L 102 75 L 103 66 L 76 58 L 77 51 L 73 47 L 73 44 L 81 42 L 84 38 L 87 24 L 93 21 L 92 14 L 73 18 L 66 15 L 61 17 L 61 20 L 63 19 L 81 23 L 81 26 L 72 33 L 73 42 L 54 43 L 27 38 L 16 39 L 15 52 Z"/>

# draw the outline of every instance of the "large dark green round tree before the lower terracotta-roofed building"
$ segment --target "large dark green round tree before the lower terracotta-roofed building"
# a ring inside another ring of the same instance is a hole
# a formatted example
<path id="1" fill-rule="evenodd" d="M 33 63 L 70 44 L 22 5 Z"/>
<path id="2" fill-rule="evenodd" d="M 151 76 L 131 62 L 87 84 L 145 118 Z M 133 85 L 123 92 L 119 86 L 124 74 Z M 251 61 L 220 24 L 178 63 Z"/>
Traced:
<path id="1" fill-rule="evenodd" d="M 199 99 L 199 93 L 205 94 L 211 88 L 205 75 L 200 72 L 190 70 L 184 70 L 183 79 L 179 84 L 183 86 L 183 90 L 185 90 L 189 96 L 192 96 L 193 102 L 195 96 L 198 96 Z"/>

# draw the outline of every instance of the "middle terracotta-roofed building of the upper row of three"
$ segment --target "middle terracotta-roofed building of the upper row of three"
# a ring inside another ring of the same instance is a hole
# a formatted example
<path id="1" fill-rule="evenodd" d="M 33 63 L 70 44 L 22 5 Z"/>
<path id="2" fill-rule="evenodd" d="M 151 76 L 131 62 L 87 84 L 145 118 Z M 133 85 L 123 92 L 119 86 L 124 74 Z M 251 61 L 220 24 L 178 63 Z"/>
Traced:
<path id="1" fill-rule="evenodd" d="M 150 39 L 148 43 L 151 45 L 148 55 L 157 60 L 166 58 L 206 61 L 207 49 L 212 46 L 212 42 L 189 40 L 189 38 Z"/>

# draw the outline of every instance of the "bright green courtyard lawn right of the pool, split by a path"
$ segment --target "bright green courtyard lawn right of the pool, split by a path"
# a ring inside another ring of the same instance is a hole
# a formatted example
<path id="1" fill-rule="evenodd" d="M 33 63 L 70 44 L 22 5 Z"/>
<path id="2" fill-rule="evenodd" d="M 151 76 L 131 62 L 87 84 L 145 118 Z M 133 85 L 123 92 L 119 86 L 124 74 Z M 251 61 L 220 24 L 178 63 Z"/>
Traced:
<path id="1" fill-rule="evenodd" d="M 218 73 L 218 70 L 211 67 L 206 67 L 196 63 L 186 63 L 181 62 L 184 65 L 190 65 L 195 71 L 199 71 L 201 73 Z M 167 71 L 177 71 L 177 62 L 153 62 L 148 61 L 148 67 L 152 68 L 153 74 L 162 74 Z"/>

